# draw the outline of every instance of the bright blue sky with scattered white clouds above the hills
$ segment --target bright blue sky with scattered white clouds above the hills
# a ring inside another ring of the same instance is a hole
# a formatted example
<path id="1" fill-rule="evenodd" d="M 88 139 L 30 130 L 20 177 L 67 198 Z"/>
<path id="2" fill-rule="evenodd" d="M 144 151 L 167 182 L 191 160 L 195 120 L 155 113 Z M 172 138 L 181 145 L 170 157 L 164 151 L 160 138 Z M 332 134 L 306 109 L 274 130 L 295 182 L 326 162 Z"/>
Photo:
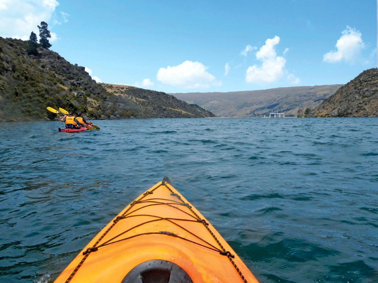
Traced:
<path id="1" fill-rule="evenodd" d="M 347 83 L 376 67 L 375 0 L 0 0 L 0 36 L 48 23 L 98 81 L 164 92 Z M 337 45 L 337 46 L 336 46 Z"/>

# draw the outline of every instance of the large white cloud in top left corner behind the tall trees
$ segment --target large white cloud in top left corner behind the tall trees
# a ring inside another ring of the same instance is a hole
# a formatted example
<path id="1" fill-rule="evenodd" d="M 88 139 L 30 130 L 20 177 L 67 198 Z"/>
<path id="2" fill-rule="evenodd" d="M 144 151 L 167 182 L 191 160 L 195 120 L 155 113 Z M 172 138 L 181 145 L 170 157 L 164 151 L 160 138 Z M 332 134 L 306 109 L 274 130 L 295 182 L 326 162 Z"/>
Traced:
<path id="1" fill-rule="evenodd" d="M 39 35 L 37 25 L 48 23 L 58 5 L 56 0 L 0 0 L 0 36 L 28 40 L 32 31 Z"/>

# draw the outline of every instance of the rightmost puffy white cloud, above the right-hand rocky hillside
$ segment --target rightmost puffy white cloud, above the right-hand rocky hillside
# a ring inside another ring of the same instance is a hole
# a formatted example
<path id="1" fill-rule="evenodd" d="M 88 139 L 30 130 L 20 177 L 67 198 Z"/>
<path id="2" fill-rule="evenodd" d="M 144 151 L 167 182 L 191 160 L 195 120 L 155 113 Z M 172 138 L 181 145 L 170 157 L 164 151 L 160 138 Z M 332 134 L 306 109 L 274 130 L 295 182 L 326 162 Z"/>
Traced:
<path id="1" fill-rule="evenodd" d="M 348 63 L 354 63 L 358 60 L 361 50 L 365 47 L 361 32 L 347 26 L 341 33 L 342 35 L 335 45 L 336 50 L 323 55 L 324 62 L 336 63 L 344 60 Z"/>

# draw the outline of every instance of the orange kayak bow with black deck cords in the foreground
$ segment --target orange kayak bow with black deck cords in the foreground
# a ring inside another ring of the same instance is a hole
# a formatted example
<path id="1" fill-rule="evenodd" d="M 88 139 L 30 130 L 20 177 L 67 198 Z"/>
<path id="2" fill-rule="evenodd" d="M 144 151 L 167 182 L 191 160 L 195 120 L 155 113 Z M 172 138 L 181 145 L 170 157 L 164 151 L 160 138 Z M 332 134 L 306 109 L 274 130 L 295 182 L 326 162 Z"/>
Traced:
<path id="1" fill-rule="evenodd" d="M 126 206 L 55 282 L 129 282 L 125 277 L 136 266 L 153 260 L 177 265 L 194 283 L 258 282 L 215 228 L 167 180 Z"/>

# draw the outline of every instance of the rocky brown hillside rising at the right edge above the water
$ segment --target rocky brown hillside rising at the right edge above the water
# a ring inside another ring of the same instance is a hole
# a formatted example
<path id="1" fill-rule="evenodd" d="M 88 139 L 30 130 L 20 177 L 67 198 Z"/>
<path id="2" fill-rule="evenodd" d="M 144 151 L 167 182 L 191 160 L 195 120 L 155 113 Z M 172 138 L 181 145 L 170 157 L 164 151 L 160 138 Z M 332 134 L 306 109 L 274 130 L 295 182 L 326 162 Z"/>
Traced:
<path id="1" fill-rule="evenodd" d="M 378 69 L 363 71 L 305 117 L 378 117 Z"/>

